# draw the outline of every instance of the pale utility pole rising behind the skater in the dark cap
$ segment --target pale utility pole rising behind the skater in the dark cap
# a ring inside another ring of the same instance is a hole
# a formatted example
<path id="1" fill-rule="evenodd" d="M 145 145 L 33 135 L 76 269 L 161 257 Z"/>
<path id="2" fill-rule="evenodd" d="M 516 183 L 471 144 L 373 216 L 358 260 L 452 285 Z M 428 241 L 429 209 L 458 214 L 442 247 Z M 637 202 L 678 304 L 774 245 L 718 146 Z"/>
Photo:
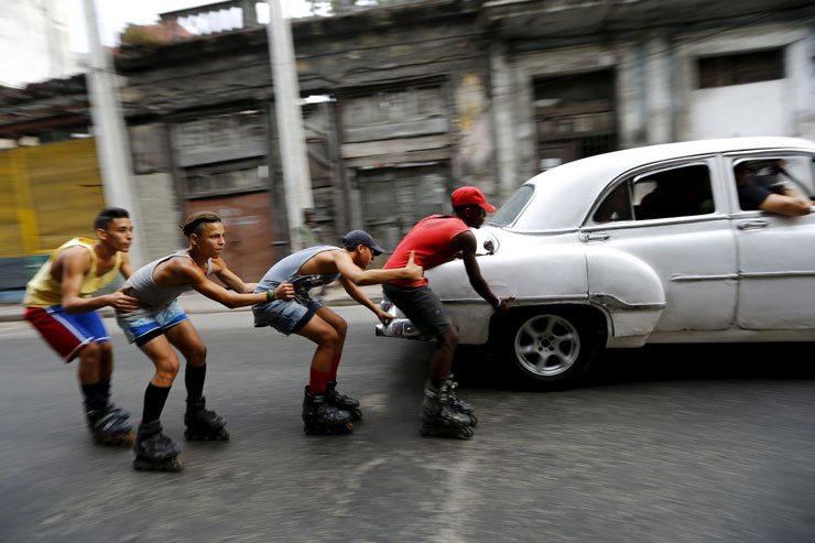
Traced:
<path id="1" fill-rule="evenodd" d="M 274 80 L 274 110 L 278 117 L 280 160 L 283 166 L 289 237 L 295 247 L 294 236 L 303 224 L 303 209 L 314 207 L 308 155 L 300 109 L 297 68 L 294 64 L 292 26 L 283 18 L 280 0 L 269 3 L 269 56 Z"/>

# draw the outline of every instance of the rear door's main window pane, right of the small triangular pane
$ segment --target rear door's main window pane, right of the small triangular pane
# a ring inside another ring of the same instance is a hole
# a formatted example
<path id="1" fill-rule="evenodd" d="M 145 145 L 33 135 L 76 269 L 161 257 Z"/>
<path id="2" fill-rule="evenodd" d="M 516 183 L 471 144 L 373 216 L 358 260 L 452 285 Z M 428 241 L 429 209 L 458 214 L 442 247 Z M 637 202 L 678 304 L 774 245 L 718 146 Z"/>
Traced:
<path id="1" fill-rule="evenodd" d="M 635 220 L 688 217 L 714 213 L 710 171 L 706 164 L 693 164 L 632 180 Z"/>

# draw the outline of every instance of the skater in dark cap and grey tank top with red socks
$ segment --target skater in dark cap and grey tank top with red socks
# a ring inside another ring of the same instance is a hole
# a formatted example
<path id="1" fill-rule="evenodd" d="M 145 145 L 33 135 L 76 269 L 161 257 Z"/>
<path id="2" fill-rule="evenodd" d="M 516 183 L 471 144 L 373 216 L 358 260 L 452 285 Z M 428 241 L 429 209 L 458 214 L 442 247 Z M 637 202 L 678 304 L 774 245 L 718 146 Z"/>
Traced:
<path id="1" fill-rule="evenodd" d="M 304 431 L 309 434 L 335 434 L 351 431 L 351 421 L 362 412 L 359 402 L 337 392 L 337 368 L 343 356 L 348 324 L 343 317 L 308 296 L 309 287 L 339 280 L 357 303 L 365 305 L 382 322 L 392 315 L 380 309 L 358 285 L 379 284 L 395 279 L 417 281 L 422 267 L 410 261 L 395 270 L 366 270 L 373 257 L 384 252 L 362 230 L 343 238 L 343 248 L 316 246 L 297 251 L 274 264 L 254 289 L 257 293 L 291 285 L 295 296 L 272 300 L 252 306 L 254 326 L 271 326 L 289 336 L 297 334 L 315 343 L 308 385 L 303 400 Z"/>

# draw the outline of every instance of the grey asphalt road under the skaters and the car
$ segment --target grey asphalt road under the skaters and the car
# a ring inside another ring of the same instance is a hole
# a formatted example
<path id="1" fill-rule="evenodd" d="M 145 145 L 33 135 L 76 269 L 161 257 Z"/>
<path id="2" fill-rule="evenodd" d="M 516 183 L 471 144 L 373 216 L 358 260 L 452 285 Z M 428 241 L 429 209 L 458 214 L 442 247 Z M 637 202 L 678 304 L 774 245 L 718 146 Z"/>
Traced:
<path id="1" fill-rule="evenodd" d="M 584 388 L 523 392 L 495 359 L 459 360 L 477 408 L 468 441 L 422 438 L 430 346 L 350 332 L 346 436 L 306 436 L 312 348 L 193 315 L 209 348 L 208 406 L 227 443 L 186 443 L 181 474 L 131 469 L 88 437 L 75 380 L 25 323 L 0 323 L 0 541 L 812 541 L 815 368 L 809 345 L 615 351 Z M 152 367 L 116 324 L 115 401 L 138 419 Z M 183 439 L 183 379 L 165 432 Z"/>

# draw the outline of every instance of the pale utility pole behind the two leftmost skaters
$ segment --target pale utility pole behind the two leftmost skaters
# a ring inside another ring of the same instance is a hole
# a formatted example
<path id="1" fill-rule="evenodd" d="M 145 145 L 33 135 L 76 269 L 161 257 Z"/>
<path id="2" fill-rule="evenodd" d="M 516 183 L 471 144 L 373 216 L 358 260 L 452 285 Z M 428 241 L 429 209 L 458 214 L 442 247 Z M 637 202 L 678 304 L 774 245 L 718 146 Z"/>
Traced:
<path id="1" fill-rule="evenodd" d="M 139 199 L 132 182 L 133 167 L 130 160 L 128 132 L 119 104 L 119 87 L 113 63 L 99 43 L 99 26 L 94 0 L 85 0 L 85 25 L 88 30 L 90 66 L 87 74 L 90 90 L 90 117 L 99 155 L 105 200 L 109 206 L 123 207 L 137 230 L 130 246 L 130 260 L 134 268 L 144 264 L 146 243 L 139 236 L 142 221 Z"/>

